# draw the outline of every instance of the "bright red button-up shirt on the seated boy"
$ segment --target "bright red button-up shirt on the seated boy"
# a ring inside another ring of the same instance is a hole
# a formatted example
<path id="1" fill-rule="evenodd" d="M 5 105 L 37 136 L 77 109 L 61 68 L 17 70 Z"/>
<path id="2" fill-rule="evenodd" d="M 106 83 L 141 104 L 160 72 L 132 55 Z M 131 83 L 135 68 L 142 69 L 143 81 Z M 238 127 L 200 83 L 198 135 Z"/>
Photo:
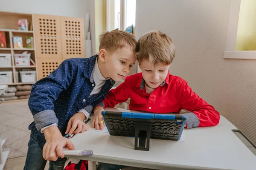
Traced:
<path id="1" fill-rule="evenodd" d="M 103 101 L 105 108 L 115 107 L 129 98 L 129 109 L 148 111 L 152 113 L 180 113 L 181 109 L 191 111 L 199 119 L 199 127 L 218 124 L 219 113 L 202 98 L 200 98 L 180 77 L 168 73 L 165 81 L 150 95 L 145 91 L 145 81 L 142 74 L 126 77 L 125 82 L 108 92 Z"/>

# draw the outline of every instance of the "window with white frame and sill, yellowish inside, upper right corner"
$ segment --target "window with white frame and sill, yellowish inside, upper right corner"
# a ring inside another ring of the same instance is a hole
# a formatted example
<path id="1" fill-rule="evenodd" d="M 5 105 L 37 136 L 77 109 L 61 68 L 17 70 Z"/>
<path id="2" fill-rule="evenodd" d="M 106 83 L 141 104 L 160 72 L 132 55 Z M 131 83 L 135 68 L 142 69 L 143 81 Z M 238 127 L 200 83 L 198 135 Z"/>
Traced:
<path id="1" fill-rule="evenodd" d="M 232 0 L 230 7 L 227 59 L 256 59 L 256 1 Z"/>

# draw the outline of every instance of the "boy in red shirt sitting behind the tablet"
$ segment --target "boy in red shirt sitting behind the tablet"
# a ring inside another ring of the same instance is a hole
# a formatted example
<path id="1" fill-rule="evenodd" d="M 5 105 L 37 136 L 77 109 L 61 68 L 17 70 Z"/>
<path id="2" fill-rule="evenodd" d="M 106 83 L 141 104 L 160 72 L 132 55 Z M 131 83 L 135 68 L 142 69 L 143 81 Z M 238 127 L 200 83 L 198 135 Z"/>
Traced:
<path id="1" fill-rule="evenodd" d="M 105 108 L 113 108 L 116 104 L 129 98 L 129 109 L 152 113 L 180 113 L 186 109 L 191 113 L 186 116 L 186 128 L 215 126 L 220 115 L 215 109 L 200 98 L 180 77 L 169 74 L 169 67 L 175 57 L 175 45 L 171 38 L 160 31 L 148 32 L 138 40 L 136 58 L 141 73 L 131 75 L 116 89 L 108 92 L 104 101 Z M 92 127 L 103 129 L 100 106 L 94 108 Z M 108 167 L 107 164 L 99 165 Z M 113 165 L 111 165 L 113 166 Z M 122 167 L 116 167 L 117 169 Z"/>

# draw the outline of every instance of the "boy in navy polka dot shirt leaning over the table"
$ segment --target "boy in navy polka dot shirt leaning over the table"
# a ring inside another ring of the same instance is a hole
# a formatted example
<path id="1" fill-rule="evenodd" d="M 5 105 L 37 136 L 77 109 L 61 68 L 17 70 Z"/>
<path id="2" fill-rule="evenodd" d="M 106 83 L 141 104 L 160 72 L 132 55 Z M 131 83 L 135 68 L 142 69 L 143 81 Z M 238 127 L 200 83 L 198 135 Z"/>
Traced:
<path id="1" fill-rule="evenodd" d="M 83 122 L 112 88 L 135 64 L 137 41 L 132 34 L 113 30 L 99 37 L 99 55 L 67 59 L 32 87 L 29 108 L 34 122 L 24 170 L 63 170 L 63 147 L 74 150 L 68 133 L 89 127 Z M 84 108 L 84 109 L 83 109 Z"/>

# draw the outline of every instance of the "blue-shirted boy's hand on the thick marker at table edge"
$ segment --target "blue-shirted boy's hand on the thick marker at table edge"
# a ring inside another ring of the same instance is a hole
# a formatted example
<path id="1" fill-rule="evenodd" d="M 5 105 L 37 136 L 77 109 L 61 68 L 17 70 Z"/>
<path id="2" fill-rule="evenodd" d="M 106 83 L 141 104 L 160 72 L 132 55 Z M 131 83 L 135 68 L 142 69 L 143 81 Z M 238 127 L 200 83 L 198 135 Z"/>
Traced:
<path id="1" fill-rule="evenodd" d="M 75 150 L 75 146 L 70 139 L 63 137 L 56 125 L 44 129 L 44 137 L 46 143 L 43 148 L 43 157 L 47 161 L 57 161 L 58 157 L 63 158 L 63 147 L 65 146 L 69 150 Z"/>

